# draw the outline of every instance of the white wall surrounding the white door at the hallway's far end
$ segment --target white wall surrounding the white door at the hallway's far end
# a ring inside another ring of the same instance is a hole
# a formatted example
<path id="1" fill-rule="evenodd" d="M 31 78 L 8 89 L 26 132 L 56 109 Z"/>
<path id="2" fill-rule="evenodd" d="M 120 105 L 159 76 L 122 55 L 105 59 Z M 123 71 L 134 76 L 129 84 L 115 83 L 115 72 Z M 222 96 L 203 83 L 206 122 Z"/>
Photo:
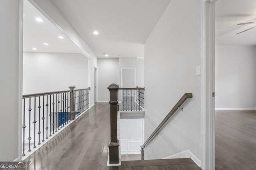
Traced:
<path id="1" fill-rule="evenodd" d="M 144 87 L 144 59 L 136 59 L 132 57 L 120 57 L 119 67 L 120 67 L 120 70 L 122 67 L 136 68 L 136 86 Z"/>

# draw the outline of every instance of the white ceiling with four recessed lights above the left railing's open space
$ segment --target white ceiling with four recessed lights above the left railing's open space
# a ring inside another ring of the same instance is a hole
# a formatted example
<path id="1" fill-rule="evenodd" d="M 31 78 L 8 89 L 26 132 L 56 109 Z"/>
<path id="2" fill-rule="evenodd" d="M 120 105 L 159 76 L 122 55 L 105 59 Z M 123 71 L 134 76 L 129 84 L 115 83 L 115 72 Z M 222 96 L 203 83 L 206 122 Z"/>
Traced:
<path id="1" fill-rule="evenodd" d="M 41 18 L 43 21 L 38 22 L 35 20 L 36 18 Z M 58 36 L 62 36 L 64 39 L 59 39 Z M 43 43 L 49 45 L 46 46 Z M 34 47 L 37 50 L 33 50 Z M 78 47 L 27 0 L 24 0 L 23 51 L 80 53 Z"/>

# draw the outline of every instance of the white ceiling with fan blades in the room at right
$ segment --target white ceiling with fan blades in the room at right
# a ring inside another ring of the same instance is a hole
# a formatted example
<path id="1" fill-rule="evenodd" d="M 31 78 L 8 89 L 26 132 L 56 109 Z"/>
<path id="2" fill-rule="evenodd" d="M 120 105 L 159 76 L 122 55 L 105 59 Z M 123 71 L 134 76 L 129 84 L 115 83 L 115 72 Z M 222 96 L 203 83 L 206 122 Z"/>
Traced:
<path id="1" fill-rule="evenodd" d="M 256 26 L 237 25 L 256 21 L 256 0 L 218 0 L 216 2 L 216 45 L 256 45 Z"/>

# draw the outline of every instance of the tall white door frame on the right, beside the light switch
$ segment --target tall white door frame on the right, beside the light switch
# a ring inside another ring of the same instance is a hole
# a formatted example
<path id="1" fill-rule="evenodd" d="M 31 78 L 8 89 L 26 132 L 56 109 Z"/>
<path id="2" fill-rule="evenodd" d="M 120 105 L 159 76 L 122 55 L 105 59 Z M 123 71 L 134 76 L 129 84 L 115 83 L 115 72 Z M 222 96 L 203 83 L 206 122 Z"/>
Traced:
<path id="1" fill-rule="evenodd" d="M 201 168 L 215 170 L 215 2 L 201 0 Z"/>

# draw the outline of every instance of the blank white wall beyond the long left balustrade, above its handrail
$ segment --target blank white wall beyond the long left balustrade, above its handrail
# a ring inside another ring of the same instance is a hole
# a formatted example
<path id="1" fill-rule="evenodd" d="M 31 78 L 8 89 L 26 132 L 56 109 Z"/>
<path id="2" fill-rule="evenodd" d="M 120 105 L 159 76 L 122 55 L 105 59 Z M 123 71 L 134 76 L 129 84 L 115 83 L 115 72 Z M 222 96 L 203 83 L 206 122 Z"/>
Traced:
<path id="1" fill-rule="evenodd" d="M 70 90 L 72 85 L 88 88 L 88 59 L 81 53 L 23 53 L 23 94 Z"/>

